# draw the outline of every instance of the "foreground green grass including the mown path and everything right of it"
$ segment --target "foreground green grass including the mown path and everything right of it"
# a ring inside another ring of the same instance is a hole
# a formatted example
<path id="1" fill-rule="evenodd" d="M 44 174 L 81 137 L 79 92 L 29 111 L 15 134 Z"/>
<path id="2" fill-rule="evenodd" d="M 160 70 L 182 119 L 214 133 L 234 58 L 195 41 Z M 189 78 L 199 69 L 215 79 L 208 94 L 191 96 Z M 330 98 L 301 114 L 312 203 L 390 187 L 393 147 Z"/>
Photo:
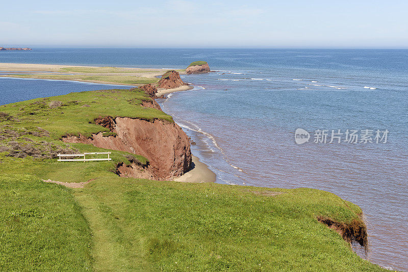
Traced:
<path id="1" fill-rule="evenodd" d="M 268 197 L 251 191 L 278 191 Z M 375 271 L 317 215 L 360 209 L 313 189 L 265 189 L 103 177 L 75 191 L 94 235 L 96 270 Z"/>

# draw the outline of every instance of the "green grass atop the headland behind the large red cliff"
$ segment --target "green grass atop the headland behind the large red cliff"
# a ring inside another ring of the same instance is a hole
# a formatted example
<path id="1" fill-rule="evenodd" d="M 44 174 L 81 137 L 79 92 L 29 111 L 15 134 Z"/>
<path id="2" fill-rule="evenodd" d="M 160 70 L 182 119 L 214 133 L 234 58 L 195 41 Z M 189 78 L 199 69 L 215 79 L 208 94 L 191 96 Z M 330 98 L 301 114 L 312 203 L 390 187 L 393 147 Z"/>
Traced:
<path id="1" fill-rule="evenodd" d="M 162 111 L 140 106 L 142 100 L 146 99 L 150 98 L 138 89 L 101 90 L 32 99 L 0 106 L 0 112 L 18 119 L 18 121 L 3 120 L 1 125 L 12 125 L 17 128 L 41 127 L 50 132 L 52 139 L 57 140 L 65 134 L 81 133 L 90 136 L 92 133 L 108 132 L 108 129 L 93 123 L 99 116 L 163 119 L 173 122 L 171 116 Z M 50 107 L 53 101 L 60 101 L 61 106 Z"/>

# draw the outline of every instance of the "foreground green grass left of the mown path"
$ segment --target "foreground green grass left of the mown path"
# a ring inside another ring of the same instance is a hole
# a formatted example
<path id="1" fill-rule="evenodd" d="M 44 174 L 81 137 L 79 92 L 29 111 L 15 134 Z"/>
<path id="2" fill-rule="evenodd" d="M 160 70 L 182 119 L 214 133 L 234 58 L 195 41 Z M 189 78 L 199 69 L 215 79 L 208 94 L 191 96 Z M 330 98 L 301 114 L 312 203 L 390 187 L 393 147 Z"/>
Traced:
<path id="1" fill-rule="evenodd" d="M 72 191 L 0 174 L 0 270 L 91 271 L 92 237 Z"/>

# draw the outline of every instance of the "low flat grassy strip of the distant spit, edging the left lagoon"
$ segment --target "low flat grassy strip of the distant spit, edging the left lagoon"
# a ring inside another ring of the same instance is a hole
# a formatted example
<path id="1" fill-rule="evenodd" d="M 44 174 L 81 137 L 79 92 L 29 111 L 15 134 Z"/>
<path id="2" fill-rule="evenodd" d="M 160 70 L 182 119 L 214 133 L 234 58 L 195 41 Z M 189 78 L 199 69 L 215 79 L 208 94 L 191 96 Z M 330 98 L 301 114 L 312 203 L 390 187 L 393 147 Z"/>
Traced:
<path id="1" fill-rule="evenodd" d="M 86 75 L 86 74 L 8 74 L 7 77 L 19 78 L 39 78 L 39 79 L 59 79 L 59 80 L 79 80 L 97 83 L 111 83 L 123 85 L 141 85 L 156 83 L 159 79 L 154 77 L 140 77 L 133 75 Z"/>

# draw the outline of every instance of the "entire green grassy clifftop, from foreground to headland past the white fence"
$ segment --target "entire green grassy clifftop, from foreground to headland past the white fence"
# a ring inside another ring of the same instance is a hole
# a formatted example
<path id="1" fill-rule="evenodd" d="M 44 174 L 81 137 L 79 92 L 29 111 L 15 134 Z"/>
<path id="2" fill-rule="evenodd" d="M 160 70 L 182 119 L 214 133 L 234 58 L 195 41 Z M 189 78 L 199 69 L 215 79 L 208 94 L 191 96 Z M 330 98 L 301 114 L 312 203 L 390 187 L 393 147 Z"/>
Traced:
<path id="1" fill-rule="evenodd" d="M 105 90 L 0 106 L 1 271 L 384 270 L 316 220 L 360 220 L 358 206 L 333 194 L 121 178 L 119 162 L 146 158 L 59 140 L 107 132 L 98 116 L 172 122 L 144 99 Z M 111 151 L 112 161 L 58 162 L 60 149 Z"/>

